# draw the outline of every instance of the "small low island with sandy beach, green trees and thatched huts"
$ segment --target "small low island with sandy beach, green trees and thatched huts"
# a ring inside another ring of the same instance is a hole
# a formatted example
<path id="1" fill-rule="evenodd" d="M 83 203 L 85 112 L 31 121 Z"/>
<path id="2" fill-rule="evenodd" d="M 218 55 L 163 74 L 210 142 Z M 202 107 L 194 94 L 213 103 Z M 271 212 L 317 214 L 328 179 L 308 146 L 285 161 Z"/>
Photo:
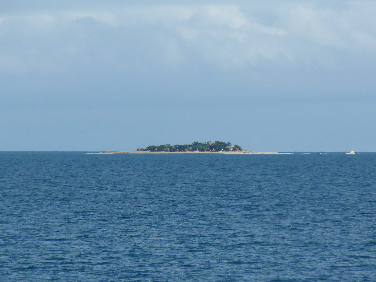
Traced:
<path id="1" fill-rule="evenodd" d="M 253 152 L 243 150 L 242 147 L 230 142 L 208 141 L 206 143 L 193 142 L 191 144 L 162 144 L 159 146 L 149 145 L 146 148 L 137 148 L 135 151 L 128 152 L 98 152 L 89 154 L 247 154 L 247 155 L 294 155 L 291 153 L 280 152 Z"/>

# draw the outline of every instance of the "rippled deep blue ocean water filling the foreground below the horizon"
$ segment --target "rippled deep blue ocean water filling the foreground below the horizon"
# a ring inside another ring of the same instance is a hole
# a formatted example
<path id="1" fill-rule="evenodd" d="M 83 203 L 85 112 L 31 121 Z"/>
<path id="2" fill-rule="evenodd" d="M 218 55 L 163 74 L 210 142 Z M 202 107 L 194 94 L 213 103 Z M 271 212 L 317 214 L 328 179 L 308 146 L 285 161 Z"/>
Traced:
<path id="1" fill-rule="evenodd" d="M 0 153 L 0 281 L 376 281 L 376 154 Z"/>

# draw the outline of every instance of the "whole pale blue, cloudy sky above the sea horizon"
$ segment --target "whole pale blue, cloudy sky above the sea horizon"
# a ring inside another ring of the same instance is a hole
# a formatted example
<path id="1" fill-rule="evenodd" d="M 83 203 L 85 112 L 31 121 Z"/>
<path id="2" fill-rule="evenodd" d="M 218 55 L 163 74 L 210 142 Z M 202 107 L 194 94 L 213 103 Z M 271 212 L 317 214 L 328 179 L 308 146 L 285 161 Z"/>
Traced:
<path id="1" fill-rule="evenodd" d="M 0 151 L 376 151 L 375 1 L 0 0 Z"/>

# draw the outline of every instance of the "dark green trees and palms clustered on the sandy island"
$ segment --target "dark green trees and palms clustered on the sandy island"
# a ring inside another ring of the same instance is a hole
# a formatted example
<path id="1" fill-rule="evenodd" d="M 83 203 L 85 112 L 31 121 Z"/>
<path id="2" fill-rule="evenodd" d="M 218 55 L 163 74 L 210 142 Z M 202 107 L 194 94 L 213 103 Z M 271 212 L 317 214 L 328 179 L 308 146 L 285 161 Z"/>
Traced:
<path id="1" fill-rule="evenodd" d="M 239 152 L 243 151 L 242 147 L 235 144 L 234 146 L 231 145 L 230 142 L 222 142 L 222 141 L 215 141 L 211 142 L 208 141 L 206 143 L 201 142 L 193 142 L 191 144 L 163 144 L 163 145 L 149 145 L 146 148 L 137 148 L 137 152 L 139 151 L 150 151 L 150 152 L 188 152 L 188 151 L 196 151 L 196 152 L 217 152 L 217 151 L 229 151 L 229 152 Z"/>

